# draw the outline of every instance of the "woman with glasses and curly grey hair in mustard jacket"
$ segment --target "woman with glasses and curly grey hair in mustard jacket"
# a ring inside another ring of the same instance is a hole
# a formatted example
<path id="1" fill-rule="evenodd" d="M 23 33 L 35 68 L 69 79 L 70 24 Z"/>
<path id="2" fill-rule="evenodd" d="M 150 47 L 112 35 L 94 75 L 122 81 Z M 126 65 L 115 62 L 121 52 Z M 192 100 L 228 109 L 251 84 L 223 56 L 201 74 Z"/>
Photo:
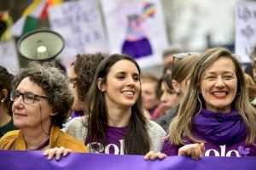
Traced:
<path id="1" fill-rule="evenodd" d="M 32 63 L 15 76 L 14 85 L 10 99 L 14 101 L 14 123 L 20 130 L 6 133 L 0 139 L 1 150 L 46 150 L 65 146 L 87 151 L 84 144 L 60 130 L 73 103 L 67 77 L 60 70 L 49 63 Z"/>

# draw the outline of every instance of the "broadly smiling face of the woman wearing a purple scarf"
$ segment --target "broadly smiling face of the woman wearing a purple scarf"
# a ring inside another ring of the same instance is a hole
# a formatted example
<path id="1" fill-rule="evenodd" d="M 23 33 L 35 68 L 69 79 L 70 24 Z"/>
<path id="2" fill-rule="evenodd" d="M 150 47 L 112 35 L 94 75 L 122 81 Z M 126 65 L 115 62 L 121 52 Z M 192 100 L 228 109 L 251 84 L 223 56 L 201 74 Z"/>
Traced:
<path id="1" fill-rule="evenodd" d="M 236 97 L 236 68 L 229 58 L 219 58 L 201 80 L 201 95 L 207 110 L 227 113 Z"/>

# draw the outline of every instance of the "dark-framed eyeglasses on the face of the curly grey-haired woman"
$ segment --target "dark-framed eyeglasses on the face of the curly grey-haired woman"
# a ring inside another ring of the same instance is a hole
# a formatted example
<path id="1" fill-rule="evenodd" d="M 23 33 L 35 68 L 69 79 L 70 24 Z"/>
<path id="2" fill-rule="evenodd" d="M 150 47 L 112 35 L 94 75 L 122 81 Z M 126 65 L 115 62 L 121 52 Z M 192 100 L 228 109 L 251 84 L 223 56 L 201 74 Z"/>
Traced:
<path id="1" fill-rule="evenodd" d="M 44 98 L 44 99 L 47 99 L 46 96 L 41 96 L 41 95 L 37 95 L 37 94 L 32 94 L 31 92 L 26 92 L 24 94 L 20 93 L 18 90 L 13 90 L 10 94 L 10 99 L 12 101 L 16 101 L 17 99 L 20 98 L 20 95 L 22 96 L 22 101 L 25 103 L 25 104 L 32 104 L 35 102 L 35 100 L 38 100 L 40 98 Z"/>

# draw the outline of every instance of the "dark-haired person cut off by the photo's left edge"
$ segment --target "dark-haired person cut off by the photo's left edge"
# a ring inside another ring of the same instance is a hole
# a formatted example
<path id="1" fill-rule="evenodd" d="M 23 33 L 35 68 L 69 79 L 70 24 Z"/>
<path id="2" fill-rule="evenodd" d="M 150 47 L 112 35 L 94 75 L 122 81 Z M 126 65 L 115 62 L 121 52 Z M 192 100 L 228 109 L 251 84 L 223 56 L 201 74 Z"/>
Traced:
<path id="1" fill-rule="evenodd" d="M 0 138 L 3 134 L 17 129 L 12 120 L 11 101 L 9 99 L 12 90 L 13 76 L 0 65 Z"/>

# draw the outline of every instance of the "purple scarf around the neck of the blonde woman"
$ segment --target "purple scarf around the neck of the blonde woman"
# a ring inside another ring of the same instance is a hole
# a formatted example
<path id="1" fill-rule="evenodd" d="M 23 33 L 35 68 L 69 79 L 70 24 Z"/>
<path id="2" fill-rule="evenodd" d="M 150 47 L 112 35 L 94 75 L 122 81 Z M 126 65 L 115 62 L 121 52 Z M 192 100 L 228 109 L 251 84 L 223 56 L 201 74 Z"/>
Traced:
<path id="1" fill-rule="evenodd" d="M 234 144 L 247 133 L 238 111 L 217 113 L 201 109 L 193 118 L 195 129 L 215 144 Z"/>

